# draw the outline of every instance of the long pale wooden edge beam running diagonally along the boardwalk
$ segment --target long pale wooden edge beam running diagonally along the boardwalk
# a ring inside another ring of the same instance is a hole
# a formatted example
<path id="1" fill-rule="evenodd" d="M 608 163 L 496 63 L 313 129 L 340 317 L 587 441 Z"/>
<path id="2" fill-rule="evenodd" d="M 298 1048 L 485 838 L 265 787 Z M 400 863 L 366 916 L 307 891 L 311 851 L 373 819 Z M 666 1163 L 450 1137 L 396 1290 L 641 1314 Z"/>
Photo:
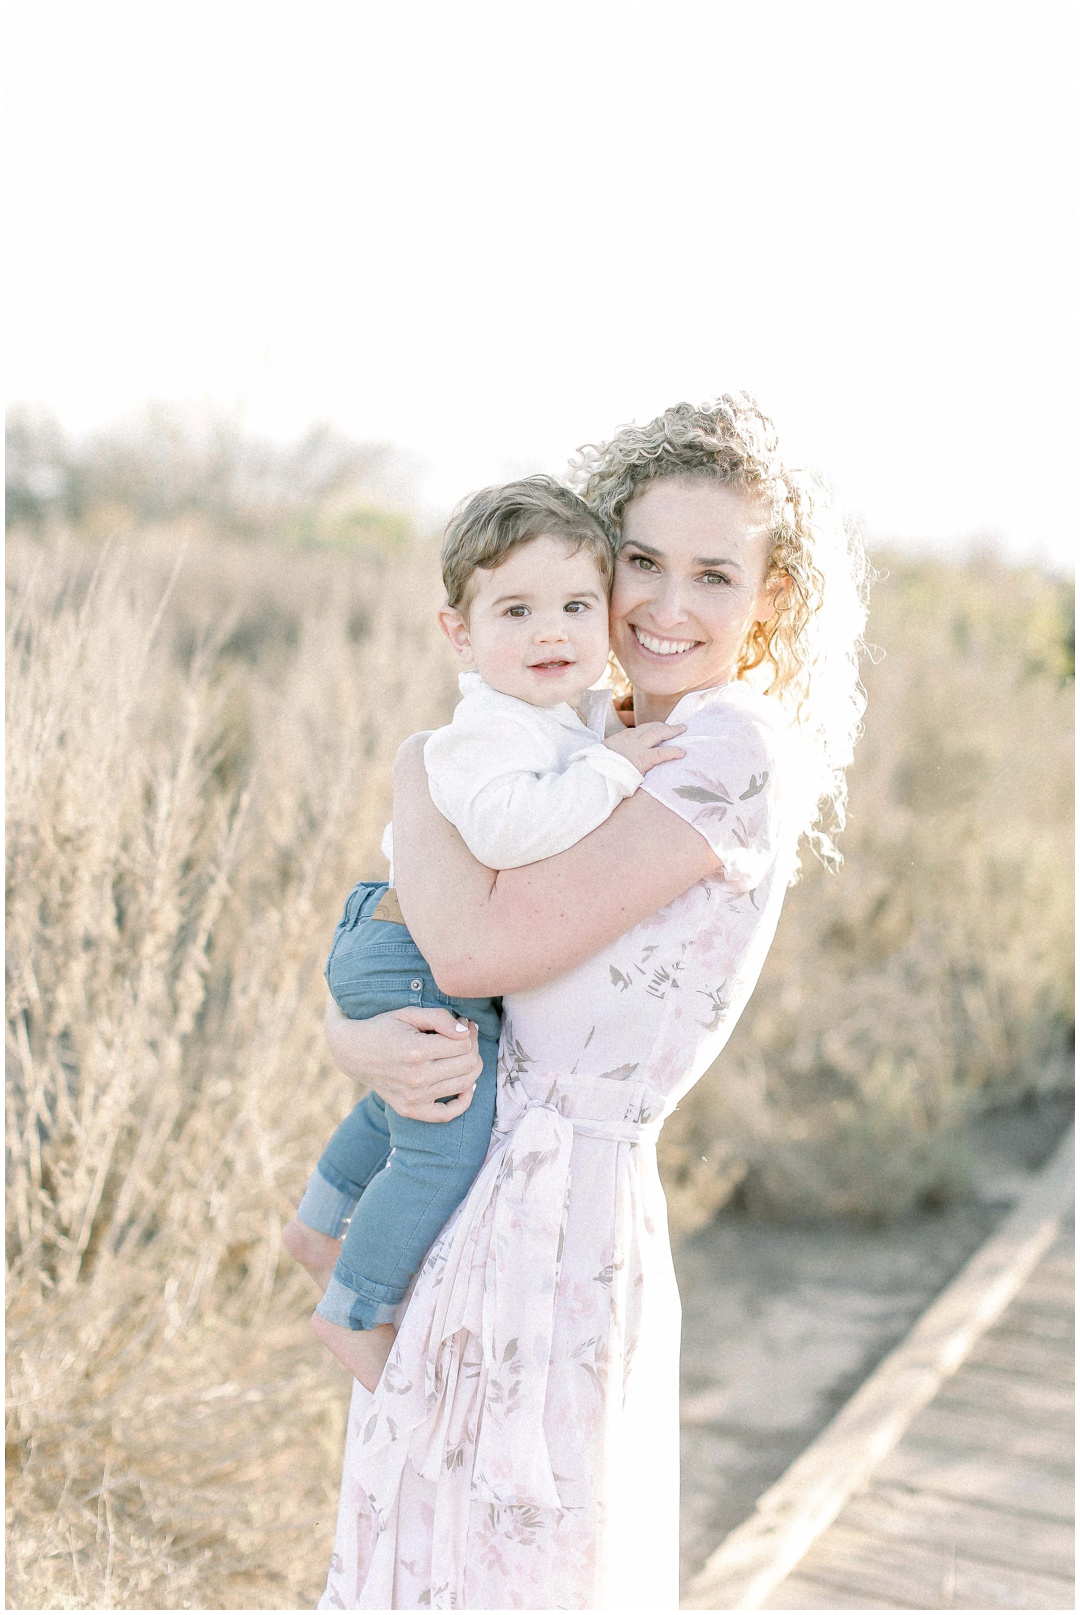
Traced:
<path id="1" fill-rule="evenodd" d="M 691 1583 L 684 1609 L 762 1607 L 1020 1290 L 1057 1237 L 1072 1185 L 1070 1132 L 1003 1226 L 751 1518 L 728 1533 Z"/>

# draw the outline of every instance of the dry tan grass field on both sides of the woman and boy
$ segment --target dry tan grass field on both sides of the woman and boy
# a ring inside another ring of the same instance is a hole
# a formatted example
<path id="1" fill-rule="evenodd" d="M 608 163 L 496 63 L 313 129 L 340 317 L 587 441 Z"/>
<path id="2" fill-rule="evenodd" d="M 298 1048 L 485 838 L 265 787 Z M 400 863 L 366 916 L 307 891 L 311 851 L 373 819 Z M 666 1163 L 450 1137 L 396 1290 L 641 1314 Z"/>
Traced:
<path id="1" fill-rule="evenodd" d="M 10 551 L 8 1502 L 26 1609 L 305 1607 L 345 1386 L 279 1227 L 350 1093 L 320 1035 L 399 740 L 449 715 L 436 570 L 174 535 Z M 878 588 L 839 879 L 809 869 L 668 1124 L 673 1221 L 948 1192 L 1070 1026 L 1061 588 Z M 702 1163 L 702 1156 L 707 1160 Z"/>

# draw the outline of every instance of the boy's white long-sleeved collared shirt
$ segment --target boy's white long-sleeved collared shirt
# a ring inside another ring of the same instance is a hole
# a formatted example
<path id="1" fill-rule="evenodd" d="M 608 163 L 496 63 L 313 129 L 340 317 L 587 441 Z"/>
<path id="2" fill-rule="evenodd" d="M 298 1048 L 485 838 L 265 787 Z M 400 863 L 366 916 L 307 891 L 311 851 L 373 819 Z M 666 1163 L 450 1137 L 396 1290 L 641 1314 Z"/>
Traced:
<path id="1" fill-rule="evenodd" d="M 565 701 L 530 706 L 476 672 L 458 686 L 452 720 L 425 745 L 428 788 L 488 869 L 563 853 L 641 785 L 633 762 L 604 745 L 609 728 L 620 730 L 609 690 L 584 691 L 583 722 Z M 389 828 L 383 851 L 391 858 Z"/>

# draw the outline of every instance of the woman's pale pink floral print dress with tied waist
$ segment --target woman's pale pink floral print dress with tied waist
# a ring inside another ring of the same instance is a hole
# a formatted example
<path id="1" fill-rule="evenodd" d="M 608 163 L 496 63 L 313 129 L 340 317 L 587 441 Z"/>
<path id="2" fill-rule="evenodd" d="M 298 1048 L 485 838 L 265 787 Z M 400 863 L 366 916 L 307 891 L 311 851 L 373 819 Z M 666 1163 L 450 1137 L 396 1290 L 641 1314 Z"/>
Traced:
<path id="1" fill-rule="evenodd" d="M 793 869 L 780 706 L 684 696 L 643 790 L 722 859 L 504 1000 L 496 1130 L 375 1394 L 355 1386 L 320 1609 L 678 1607 L 680 1302 L 655 1139 L 726 1042 Z"/>

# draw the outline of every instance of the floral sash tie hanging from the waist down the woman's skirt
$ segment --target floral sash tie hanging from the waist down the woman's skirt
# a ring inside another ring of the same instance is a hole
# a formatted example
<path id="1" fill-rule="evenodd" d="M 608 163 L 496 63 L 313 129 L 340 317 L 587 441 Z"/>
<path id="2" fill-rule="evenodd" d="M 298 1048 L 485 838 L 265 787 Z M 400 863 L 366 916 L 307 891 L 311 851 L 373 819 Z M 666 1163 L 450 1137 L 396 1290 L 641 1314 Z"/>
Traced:
<path id="1" fill-rule="evenodd" d="M 541 1100 L 510 1119 L 505 1090 L 499 1103 L 504 1126 L 425 1261 L 355 1452 L 381 1526 L 407 1458 L 428 1481 L 467 1468 L 478 1502 L 562 1507 L 544 1403 L 573 1137 L 654 1143 L 660 1121 L 570 1118 Z M 444 1567 L 452 1581 L 460 1568 Z"/>

